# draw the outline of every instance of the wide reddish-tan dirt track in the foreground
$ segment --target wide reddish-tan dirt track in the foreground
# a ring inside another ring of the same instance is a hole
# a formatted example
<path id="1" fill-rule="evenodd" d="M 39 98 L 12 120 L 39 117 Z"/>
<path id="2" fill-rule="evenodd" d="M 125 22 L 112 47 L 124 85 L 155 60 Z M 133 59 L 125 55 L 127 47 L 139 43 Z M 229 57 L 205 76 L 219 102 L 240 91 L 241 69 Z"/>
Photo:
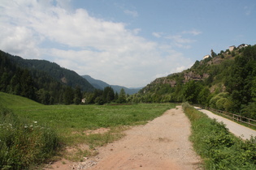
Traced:
<path id="1" fill-rule="evenodd" d="M 189 142 L 190 122 L 180 106 L 125 134 L 119 141 L 98 148 L 97 156 L 80 163 L 67 161 L 53 169 L 200 169 L 201 159 Z"/>

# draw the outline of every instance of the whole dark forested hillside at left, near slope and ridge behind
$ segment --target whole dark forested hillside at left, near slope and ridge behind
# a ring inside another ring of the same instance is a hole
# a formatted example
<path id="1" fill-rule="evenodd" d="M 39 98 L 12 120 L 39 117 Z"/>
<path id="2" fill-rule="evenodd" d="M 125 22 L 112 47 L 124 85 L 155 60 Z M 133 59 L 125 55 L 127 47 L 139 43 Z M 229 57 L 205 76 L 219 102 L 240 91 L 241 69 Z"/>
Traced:
<path id="1" fill-rule="evenodd" d="M 93 90 L 90 84 L 82 86 L 88 83 L 83 78 L 72 81 L 73 71 L 62 69 L 54 63 L 24 60 L 0 51 L 0 66 L 0 91 L 24 96 L 41 104 L 80 104 L 82 90 Z M 54 79 L 54 75 L 66 76 L 70 83 Z"/>

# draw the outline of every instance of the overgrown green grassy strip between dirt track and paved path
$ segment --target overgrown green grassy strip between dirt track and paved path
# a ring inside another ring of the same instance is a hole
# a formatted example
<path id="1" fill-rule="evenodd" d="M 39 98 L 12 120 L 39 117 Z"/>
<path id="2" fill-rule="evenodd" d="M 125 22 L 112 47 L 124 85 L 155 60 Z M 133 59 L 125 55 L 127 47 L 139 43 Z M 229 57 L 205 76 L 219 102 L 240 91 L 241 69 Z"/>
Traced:
<path id="1" fill-rule="evenodd" d="M 192 123 L 190 140 L 206 169 L 256 169 L 256 138 L 236 138 L 222 123 L 188 103 L 182 106 Z"/>

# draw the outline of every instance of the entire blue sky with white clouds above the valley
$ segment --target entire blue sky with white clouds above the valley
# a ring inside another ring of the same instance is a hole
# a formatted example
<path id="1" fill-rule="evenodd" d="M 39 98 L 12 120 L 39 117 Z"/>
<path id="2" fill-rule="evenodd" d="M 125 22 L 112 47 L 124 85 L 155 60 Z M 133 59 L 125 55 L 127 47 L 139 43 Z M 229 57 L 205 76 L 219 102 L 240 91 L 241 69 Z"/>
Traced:
<path id="1" fill-rule="evenodd" d="M 255 45 L 255 0 L 0 0 L 0 49 L 145 87 L 231 45 Z"/>

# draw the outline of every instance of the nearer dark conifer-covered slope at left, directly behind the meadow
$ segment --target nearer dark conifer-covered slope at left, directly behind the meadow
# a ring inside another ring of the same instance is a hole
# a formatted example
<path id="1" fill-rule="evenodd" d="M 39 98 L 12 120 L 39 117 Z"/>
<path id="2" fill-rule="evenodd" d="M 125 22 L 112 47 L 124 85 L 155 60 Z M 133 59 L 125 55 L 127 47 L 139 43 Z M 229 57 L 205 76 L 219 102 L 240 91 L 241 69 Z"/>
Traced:
<path id="1" fill-rule="evenodd" d="M 32 60 L 24 60 L 0 51 L 0 91 L 24 96 L 41 104 L 63 103 L 66 86 L 50 74 L 33 69 L 33 64 L 31 66 L 30 62 Z M 32 63 L 38 66 L 41 62 L 35 60 Z M 49 62 L 48 65 L 43 66 L 48 68 L 51 64 Z M 53 68 L 51 72 L 54 72 Z M 73 102 L 72 99 L 69 103 Z"/>

